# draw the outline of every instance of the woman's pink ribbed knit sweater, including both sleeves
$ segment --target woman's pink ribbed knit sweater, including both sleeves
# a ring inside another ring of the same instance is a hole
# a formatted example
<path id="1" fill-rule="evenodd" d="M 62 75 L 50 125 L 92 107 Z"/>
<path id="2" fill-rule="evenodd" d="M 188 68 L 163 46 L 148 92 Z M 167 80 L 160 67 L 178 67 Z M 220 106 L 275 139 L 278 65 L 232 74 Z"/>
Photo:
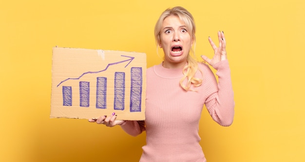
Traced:
<path id="1" fill-rule="evenodd" d="M 233 122 L 234 100 L 228 61 L 210 67 L 199 63 L 203 83 L 185 91 L 179 81 L 182 69 L 155 65 L 147 69 L 146 120 L 125 121 L 123 130 L 136 136 L 146 130 L 146 145 L 140 162 L 206 162 L 199 145 L 199 120 L 204 104 L 222 126 Z M 197 71 L 195 77 L 202 78 Z"/>

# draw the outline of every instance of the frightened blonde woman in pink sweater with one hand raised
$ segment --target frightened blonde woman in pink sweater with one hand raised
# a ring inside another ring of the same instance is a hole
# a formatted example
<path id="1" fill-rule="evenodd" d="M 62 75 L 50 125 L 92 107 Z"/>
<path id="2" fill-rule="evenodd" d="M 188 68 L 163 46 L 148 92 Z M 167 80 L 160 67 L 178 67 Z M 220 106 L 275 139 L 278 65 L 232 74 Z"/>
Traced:
<path id="1" fill-rule="evenodd" d="M 194 58 L 194 19 L 183 7 L 165 10 L 155 25 L 157 46 L 164 61 L 147 69 L 146 120 L 119 121 L 114 113 L 89 119 L 108 127 L 120 125 L 136 136 L 146 131 L 140 162 L 206 162 L 199 145 L 199 120 L 204 104 L 221 126 L 233 122 L 234 100 L 226 52 L 226 39 L 218 32 L 219 47 L 211 38 L 214 57 L 201 56 L 217 70 Z"/>

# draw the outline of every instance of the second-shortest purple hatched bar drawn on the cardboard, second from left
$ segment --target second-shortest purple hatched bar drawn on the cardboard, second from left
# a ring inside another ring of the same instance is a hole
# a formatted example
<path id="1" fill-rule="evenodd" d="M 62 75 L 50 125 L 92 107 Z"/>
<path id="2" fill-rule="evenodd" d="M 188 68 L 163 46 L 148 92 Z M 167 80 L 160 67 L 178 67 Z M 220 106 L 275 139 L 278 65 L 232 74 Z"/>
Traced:
<path id="1" fill-rule="evenodd" d="M 79 106 L 89 107 L 90 82 L 79 81 Z"/>

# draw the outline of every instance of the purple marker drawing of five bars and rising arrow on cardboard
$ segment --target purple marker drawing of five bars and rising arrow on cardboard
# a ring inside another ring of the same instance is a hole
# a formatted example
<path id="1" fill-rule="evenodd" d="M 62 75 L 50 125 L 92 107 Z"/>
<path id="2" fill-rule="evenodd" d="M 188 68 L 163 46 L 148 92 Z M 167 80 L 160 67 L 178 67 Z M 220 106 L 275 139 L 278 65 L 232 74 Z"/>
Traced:
<path id="1" fill-rule="evenodd" d="M 85 72 L 78 78 L 68 78 L 61 81 L 57 87 L 68 80 L 79 80 L 86 74 L 96 74 L 106 71 L 109 66 L 117 65 L 129 61 L 129 65 L 134 57 L 129 57 L 130 59 L 108 64 L 105 69 L 95 72 Z M 126 66 L 127 66 L 126 65 Z M 126 67 L 125 66 L 125 67 Z M 142 84 L 143 84 L 143 74 L 142 67 L 131 67 L 131 91 L 130 91 L 130 112 L 141 112 L 141 101 L 142 101 Z M 63 106 L 72 106 L 72 87 L 62 86 L 63 94 Z M 90 106 L 90 82 L 79 81 L 79 106 L 89 107 Z M 107 108 L 107 78 L 97 77 L 96 78 L 96 109 L 106 109 Z M 124 110 L 125 109 L 125 73 L 115 72 L 114 73 L 114 110 Z"/>

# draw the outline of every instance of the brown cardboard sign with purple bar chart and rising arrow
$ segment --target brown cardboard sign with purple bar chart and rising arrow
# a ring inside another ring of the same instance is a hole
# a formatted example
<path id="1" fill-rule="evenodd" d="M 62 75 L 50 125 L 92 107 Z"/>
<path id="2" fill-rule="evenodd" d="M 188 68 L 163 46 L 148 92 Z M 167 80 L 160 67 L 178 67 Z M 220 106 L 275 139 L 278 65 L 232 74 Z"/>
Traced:
<path id="1" fill-rule="evenodd" d="M 52 66 L 50 117 L 89 118 L 115 112 L 118 119 L 145 119 L 146 55 L 106 51 L 103 60 L 93 49 L 63 50 L 67 56 L 60 53 L 60 65 Z M 70 61 L 75 56 L 74 52 L 83 58 L 76 58 L 77 62 L 70 66 L 62 65 L 70 64 L 66 60 Z M 89 52 L 93 53 L 92 56 Z M 72 72 L 67 69 L 72 69 Z"/>

